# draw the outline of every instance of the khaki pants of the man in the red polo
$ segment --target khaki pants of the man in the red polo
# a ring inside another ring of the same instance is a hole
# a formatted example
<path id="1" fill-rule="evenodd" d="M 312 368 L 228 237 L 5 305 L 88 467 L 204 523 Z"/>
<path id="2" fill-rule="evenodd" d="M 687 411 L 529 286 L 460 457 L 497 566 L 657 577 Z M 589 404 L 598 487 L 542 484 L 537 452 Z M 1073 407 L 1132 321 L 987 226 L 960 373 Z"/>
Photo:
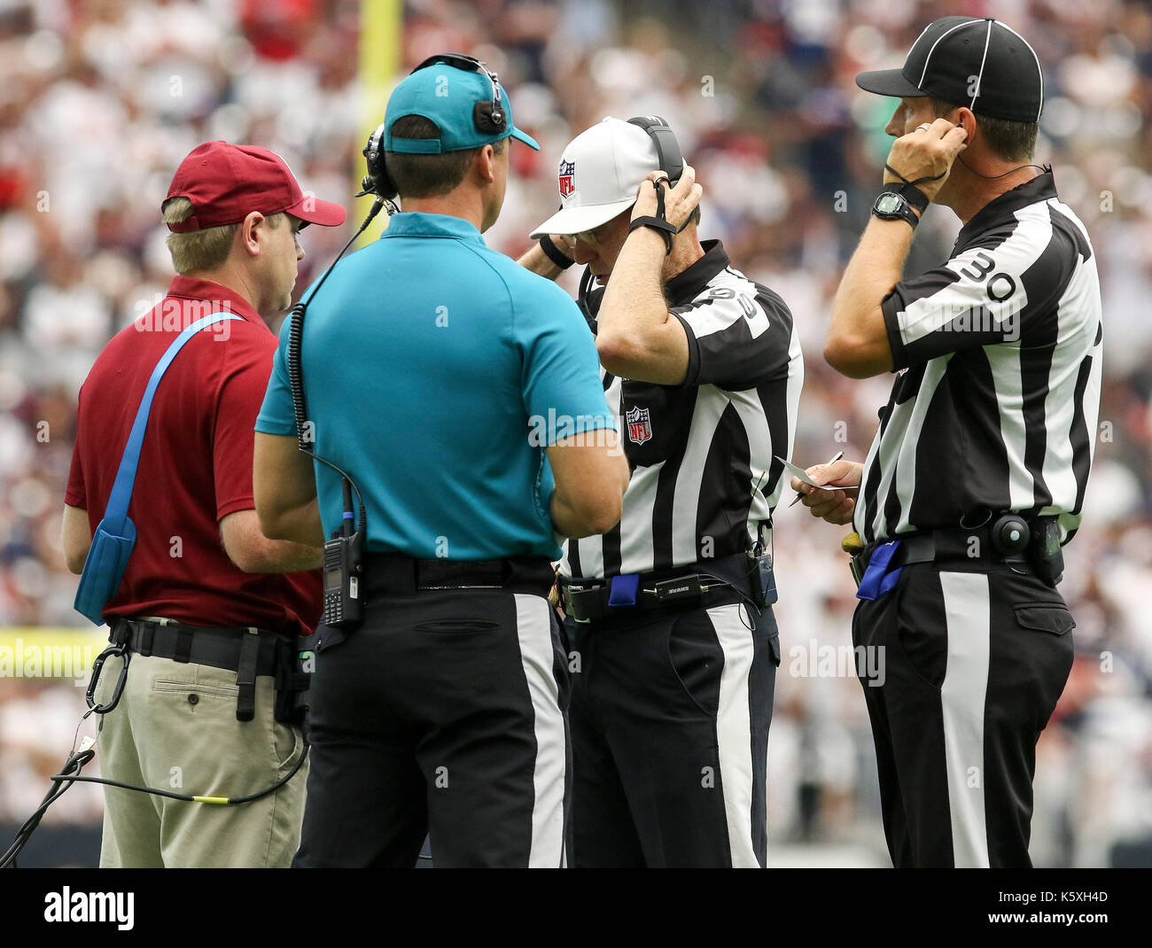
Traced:
<path id="1" fill-rule="evenodd" d="M 113 693 L 122 659 L 109 658 L 96 698 Z M 100 715 L 101 774 L 138 787 L 238 797 L 275 783 L 303 753 L 297 728 L 273 719 L 274 681 L 256 680 L 256 716 L 236 720 L 236 673 L 131 655 L 120 704 Z M 100 866 L 288 866 L 300 843 L 308 765 L 253 803 L 184 803 L 105 787 Z"/>

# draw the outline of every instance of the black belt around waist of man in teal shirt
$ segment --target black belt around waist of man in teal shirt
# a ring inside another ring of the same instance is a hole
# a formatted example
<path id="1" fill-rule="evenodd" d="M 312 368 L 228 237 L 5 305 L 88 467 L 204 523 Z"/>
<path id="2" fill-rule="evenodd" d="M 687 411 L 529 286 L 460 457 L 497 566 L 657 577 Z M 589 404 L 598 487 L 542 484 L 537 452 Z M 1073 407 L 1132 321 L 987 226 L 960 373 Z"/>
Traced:
<path id="1" fill-rule="evenodd" d="M 506 589 L 547 596 L 555 571 L 547 556 L 503 560 L 418 560 L 400 553 L 364 556 L 366 601 L 374 596 L 416 596 L 429 590 Z"/>

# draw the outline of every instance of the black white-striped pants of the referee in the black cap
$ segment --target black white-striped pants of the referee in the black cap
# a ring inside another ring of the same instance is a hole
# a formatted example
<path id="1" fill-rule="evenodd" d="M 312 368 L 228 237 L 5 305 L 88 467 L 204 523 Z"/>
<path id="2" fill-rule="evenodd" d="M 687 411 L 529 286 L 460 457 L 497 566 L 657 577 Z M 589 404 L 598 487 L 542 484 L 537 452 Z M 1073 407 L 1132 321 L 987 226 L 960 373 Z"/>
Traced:
<path id="1" fill-rule="evenodd" d="M 894 865 L 1031 865 L 1036 742 L 1071 670 L 1073 625 L 1059 592 L 1007 564 L 905 566 L 857 606 Z"/>

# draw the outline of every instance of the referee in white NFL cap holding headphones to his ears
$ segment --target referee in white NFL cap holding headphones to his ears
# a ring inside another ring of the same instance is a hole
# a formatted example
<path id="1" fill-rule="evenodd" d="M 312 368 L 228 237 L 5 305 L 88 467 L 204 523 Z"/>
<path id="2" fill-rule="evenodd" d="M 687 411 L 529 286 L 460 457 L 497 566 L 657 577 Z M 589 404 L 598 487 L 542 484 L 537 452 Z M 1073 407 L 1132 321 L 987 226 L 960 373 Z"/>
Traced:
<path id="1" fill-rule="evenodd" d="M 558 172 L 561 210 L 521 263 L 552 278 L 586 265 L 581 303 L 631 469 L 620 524 L 569 540 L 560 564 L 569 863 L 763 866 L 774 455 L 791 452 L 803 381 L 793 317 L 698 238 L 702 189 L 662 119 L 605 119 Z"/>

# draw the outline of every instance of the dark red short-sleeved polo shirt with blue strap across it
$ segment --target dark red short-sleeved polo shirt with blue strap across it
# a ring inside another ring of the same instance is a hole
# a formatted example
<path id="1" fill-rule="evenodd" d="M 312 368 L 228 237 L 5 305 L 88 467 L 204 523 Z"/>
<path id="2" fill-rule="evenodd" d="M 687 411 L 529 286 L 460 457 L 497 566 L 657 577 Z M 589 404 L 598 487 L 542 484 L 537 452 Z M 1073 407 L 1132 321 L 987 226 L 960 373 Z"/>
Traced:
<path id="1" fill-rule="evenodd" d="M 66 500 L 88 510 L 94 531 L 152 370 L 185 326 L 218 310 L 241 318 L 190 339 L 156 390 L 128 509 L 136 548 L 104 619 L 305 634 L 320 615 L 320 571 L 242 572 L 220 539 L 223 517 L 255 507 L 252 426 L 276 350 L 275 335 L 230 289 L 177 276 L 100 352 L 79 390 Z"/>

